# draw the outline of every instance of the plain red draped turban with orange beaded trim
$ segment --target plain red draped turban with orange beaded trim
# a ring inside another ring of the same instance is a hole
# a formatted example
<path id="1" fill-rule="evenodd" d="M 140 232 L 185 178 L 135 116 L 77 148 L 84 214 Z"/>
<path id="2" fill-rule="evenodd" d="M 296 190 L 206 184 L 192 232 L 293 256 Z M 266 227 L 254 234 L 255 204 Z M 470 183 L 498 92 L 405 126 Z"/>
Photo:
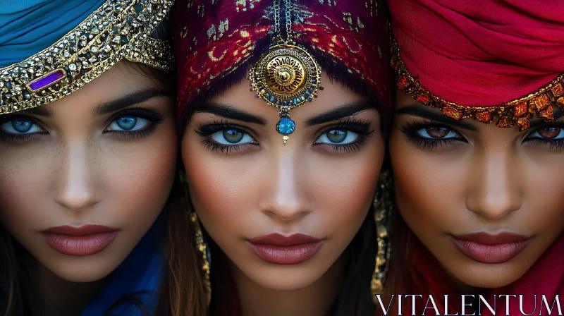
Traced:
<path id="1" fill-rule="evenodd" d="M 387 1 L 398 87 L 419 102 L 521 130 L 564 108 L 563 1 Z"/>

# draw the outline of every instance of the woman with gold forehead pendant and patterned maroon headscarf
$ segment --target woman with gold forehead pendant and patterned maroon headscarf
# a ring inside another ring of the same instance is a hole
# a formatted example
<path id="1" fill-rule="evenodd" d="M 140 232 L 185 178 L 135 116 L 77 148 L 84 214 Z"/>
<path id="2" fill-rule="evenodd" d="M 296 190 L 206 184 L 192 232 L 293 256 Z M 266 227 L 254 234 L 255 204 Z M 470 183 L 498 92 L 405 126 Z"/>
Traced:
<path id="1" fill-rule="evenodd" d="M 374 315 L 391 117 L 381 6 L 176 4 L 178 125 L 212 315 Z"/>

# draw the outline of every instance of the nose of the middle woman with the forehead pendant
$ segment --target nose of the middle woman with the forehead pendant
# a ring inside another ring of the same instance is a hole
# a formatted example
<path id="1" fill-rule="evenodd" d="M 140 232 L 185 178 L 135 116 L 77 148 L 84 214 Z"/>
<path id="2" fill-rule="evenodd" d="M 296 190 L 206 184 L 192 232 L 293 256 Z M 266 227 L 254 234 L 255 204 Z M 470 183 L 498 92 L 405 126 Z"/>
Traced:
<path id="1" fill-rule="evenodd" d="M 279 154 L 269 161 L 266 190 L 259 206 L 264 214 L 278 221 L 296 221 L 312 211 L 307 197 L 303 165 L 296 164 L 295 152 Z"/>

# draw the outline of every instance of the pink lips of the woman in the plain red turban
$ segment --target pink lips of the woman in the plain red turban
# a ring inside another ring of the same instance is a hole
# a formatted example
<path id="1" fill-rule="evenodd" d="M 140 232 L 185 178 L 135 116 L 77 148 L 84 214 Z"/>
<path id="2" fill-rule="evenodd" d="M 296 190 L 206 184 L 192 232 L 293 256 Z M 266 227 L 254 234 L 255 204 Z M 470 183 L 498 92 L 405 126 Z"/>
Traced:
<path id="1" fill-rule="evenodd" d="M 499 264 L 508 262 L 519 255 L 527 247 L 530 236 L 517 233 L 470 233 L 467 235 L 452 235 L 451 240 L 460 252 L 470 259 Z"/>

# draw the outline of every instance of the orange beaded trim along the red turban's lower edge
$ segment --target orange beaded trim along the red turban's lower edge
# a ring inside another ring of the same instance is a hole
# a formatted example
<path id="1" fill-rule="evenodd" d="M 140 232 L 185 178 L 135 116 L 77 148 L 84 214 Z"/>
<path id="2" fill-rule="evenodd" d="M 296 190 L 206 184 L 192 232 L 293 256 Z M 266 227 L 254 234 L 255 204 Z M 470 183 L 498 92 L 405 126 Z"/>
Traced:
<path id="1" fill-rule="evenodd" d="M 516 124 L 522 131 L 529 128 L 535 114 L 546 122 L 552 122 L 554 121 L 553 107 L 564 110 L 564 74 L 536 92 L 511 102 L 492 107 L 462 107 L 433 95 L 411 76 L 401 59 L 400 48 L 393 36 L 391 37 L 391 66 L 396 71 L 400 90 L 409 93 L 422 104 L 441 109 L 443 114 L 455 120 L 472 118 L 479 122 L 492 123 L 494 117 L 498 116 L 496 126 L 513 127 Z"/>

